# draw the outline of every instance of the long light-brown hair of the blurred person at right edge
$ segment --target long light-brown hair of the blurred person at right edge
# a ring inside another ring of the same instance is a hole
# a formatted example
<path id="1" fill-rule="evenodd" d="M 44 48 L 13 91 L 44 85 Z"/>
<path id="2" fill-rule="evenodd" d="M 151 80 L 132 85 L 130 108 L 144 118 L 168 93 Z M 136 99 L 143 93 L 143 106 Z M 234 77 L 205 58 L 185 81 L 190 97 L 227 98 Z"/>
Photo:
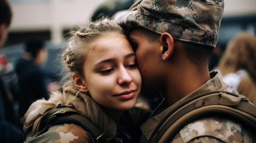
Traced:
<path id="1" fill-rule="evenodd" d="M 240 69 L 247 70 L 256 82 L 256 37 L 248 31 L 237 33 L 227 44 L 217 67 L 224 76 Z"/>

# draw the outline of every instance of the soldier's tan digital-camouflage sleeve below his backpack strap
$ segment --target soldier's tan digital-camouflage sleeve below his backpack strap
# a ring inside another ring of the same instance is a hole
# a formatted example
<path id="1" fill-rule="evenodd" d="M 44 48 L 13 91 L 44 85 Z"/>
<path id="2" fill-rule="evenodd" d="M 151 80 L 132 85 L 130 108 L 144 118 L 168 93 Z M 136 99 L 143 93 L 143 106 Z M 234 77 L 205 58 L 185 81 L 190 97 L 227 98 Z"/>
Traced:
<path id="1" fill-rule="evenodd" d="M 206 117 L 186 125 L 171 143 L 254 143 L 249 127 L 221 117 Z"/>

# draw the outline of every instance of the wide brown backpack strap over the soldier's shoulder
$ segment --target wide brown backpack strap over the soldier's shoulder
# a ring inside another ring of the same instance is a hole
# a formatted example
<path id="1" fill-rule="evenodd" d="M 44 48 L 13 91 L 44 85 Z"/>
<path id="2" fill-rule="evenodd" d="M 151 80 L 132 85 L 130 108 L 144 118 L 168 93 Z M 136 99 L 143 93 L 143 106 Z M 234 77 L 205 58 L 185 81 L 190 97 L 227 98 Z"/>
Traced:
<path id="1" fill-rule="evenodd" d="M 170 142 L 185 125 L 212 114 L 234 117 L 256 129 L 256 106 L 248 99 L 226 91 L 207 92 L 199 96 L 169 115 L 161 124 L 162 128 L 150 136 L 149 142 Z"/>

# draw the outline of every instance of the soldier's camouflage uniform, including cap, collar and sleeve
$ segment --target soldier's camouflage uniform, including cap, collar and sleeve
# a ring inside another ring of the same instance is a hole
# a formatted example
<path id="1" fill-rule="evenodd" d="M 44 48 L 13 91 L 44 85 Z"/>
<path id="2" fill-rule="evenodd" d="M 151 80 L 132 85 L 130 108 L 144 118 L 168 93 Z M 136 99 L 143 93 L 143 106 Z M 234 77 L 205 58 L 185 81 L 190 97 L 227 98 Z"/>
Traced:
<path id="1" fill-rule="evenodd" d="M 115 21 L 126 31 L 141 27 L 158 34 L 167 32 L 174 40 L 212 48 L 216 46 L 218 40 L 223 10 L 224 0 L 140 0 L 129 11 L 117 15 Z M 141 125 L 141 142 L 147 143 L 161 136 L 157 131 L 164 128 L 161 125 L 167 121 L 165 117 L 177 111 L 186 100 L 206 92 L 227 90 L 228 86 L 222 81 L 220 73 L 213 71 L 210 75 L 211 79 L 207 83 L 172 106 L 158 110 L 159 114 Z M 254 143 L 256 140 L 252 133 L 247 126 L 235 119 L 211 115 L 184 125 L 184 128 L 180 132 L 177 131 L 175 133 L 177 135 L 169 142 Z M 168 137 L 165 136 L 164 139 Z"/>

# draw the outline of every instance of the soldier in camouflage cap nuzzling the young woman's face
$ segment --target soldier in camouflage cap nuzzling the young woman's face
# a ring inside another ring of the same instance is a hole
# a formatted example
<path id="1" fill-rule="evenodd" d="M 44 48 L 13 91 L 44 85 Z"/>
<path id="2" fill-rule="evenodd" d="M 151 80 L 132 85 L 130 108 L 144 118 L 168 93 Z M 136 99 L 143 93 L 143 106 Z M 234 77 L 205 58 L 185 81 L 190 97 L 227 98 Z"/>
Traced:
<path id="1" fill-rule="evenodd" d="M 159 134 L 162 128 L 168 130 L 163 123 L 168 118 L 173 120 L 170 115 L 180 110 L 186 100 L 211 91 L 227 90 L 220 73 L 208 70 L 223 9 L 223 0 L 143 0 L 115 18 L 129 32 L 142 76 L 142 93 L 160 91 L 165 99 L 155 114 L 141 125 L 142 143 L 162 143 L 154 139 L 162 137 Z M 210 114 L 195 117 L 166 142 L 256 142 L 252 133 L 234 118 Z"/>

